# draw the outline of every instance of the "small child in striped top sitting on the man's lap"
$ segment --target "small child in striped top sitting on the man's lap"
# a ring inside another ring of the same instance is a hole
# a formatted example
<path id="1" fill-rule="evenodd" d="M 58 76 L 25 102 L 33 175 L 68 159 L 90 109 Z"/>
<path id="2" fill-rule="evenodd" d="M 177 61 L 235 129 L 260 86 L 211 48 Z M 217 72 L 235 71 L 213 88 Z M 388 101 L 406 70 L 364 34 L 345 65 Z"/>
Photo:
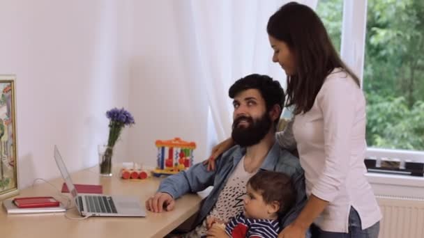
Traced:
<path id="1" fill-rule="evenodd" d="M 245 212 L 225 225 L 208 219 L 207 237 L 278 237 L 279 219 L 296 200 L 289 176 L 274 171 L 259 171 L 246 185 Z"/>

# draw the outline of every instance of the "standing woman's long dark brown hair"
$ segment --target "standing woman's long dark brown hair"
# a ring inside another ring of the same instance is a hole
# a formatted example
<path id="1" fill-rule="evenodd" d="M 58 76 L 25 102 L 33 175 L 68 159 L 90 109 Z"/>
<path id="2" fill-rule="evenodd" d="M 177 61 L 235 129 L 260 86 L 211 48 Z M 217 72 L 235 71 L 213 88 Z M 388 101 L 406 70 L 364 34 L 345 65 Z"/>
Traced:
<path id="1" fill-rule="evenodd" d="M 312 108 L 324 79 L 335 68 L 342 68 L 359 86 L 358 77 L 340 59 L 321 19 L 308 6 L 283 5 L 269 18 L 266 31 L 294 54 L 296 70 L 287 75 L 286 106 L 294 105 L 296 115 Z"/>

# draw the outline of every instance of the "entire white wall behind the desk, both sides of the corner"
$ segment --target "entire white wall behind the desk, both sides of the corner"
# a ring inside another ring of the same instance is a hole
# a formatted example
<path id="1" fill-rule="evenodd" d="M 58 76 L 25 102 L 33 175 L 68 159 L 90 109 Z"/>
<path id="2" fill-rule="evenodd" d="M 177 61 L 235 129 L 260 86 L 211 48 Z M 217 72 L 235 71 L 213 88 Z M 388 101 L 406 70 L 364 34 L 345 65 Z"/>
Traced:
<path id="1" fill-rule="evenodd" d="M 195 161 L 206 157 L 206 95 L 200 81 L 187 83 L 197 77 L 194 54 L 186 54 L 190 21 L 181 17 L 188 3 L 0 0 L 0 74 L 17 75 L 21 188 L 59 177 L 54 144 L 68 170 L 96 165 L 105 111 L 114 106 L 136 121 L 115 161 L 154 166 L 156 139 L 175 136 L 197 143 Z"/>

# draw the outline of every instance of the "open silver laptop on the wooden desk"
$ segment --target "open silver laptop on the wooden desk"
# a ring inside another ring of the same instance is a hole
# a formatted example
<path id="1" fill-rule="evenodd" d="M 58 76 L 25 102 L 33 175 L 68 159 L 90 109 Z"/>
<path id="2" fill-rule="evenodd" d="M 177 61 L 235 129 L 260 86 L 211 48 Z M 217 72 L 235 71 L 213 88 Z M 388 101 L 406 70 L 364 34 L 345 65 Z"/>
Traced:
<path id="1" fill-rule="evenodd" d="M 146 216 L 146 211 L 140 206 L 137 197 L 78 194 L 56 145 L 54 145 L 54 160 L 81 216 Z"/>

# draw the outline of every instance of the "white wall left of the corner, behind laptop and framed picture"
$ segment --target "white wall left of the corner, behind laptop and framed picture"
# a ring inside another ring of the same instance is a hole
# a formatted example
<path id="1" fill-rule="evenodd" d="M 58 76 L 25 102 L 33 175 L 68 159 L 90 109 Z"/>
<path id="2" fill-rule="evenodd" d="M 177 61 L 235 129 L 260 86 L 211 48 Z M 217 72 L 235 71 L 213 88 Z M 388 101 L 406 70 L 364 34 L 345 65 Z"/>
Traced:
<path id="1" fill-rule="evenodd" d="M 0 1 L 0 74 L 16 74 L 20 187 L 97 163 L 105 111 L 128 107 L 128 1 Z M 116 155 L 126 154 L 125 137 Z"/>

